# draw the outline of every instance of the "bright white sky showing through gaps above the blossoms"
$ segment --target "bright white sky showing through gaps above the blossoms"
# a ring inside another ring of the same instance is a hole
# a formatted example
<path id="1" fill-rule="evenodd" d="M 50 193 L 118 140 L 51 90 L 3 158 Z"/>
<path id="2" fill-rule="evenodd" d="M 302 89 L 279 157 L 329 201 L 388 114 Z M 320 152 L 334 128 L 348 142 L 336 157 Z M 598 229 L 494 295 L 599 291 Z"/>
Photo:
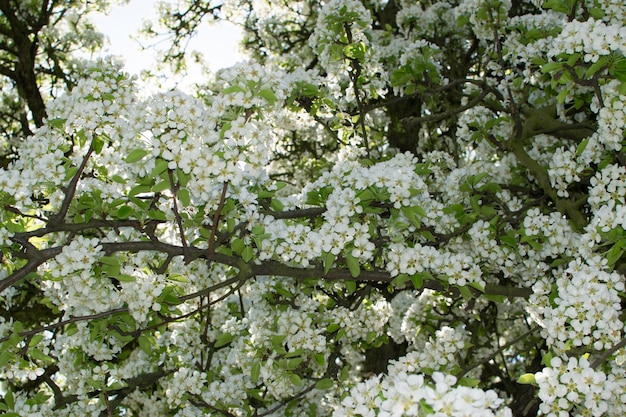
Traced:
<path id="1" fill-rule="evenodd" d="M 138 33 L 144 20 L 157 21 L 155 6 L 158 2 L 158 0 L 130 0 L 125 5 L 112 7 L 108 15 L 101 13 L 90 15 L 98 30 L 108 38 L 103 55 L 121 56 L 126 63 L 126 71 L 131 74 L 139 74 L 143 69 L 154 67 L 158 50 L 151 48 L 142 51 L 140 46 L 140 42 L 148 45 L 154 41 L 142 39 Z M 220 22 L 210 25 L 203 23 L 198 34 L 190 42 L 188 50 L 200 51 L 208 67 L 216 71 L 245 59 L 239 52 L 240 39 L 241 30 L 231 23 Z M 156 46 L 159 47 L 164 49 L 165 45 Z M 191 68 L 181 80 L 181 84 L 192 85 L 201 79 L 201 76 L 198 68 Z"/>

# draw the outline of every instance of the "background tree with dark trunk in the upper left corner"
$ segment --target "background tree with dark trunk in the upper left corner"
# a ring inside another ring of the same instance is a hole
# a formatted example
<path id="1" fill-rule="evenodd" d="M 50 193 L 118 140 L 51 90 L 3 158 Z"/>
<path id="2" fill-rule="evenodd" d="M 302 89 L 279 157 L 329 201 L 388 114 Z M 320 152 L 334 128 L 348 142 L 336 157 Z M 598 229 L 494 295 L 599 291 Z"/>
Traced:
<path id="1" fill-rule="evenodd" d="M 102 45 L 88 13 L 116 2 L 0 1 L 0 166 L 43 125 L 45 102 L 71 88 L 84 70 L 84 56 Z"/>

